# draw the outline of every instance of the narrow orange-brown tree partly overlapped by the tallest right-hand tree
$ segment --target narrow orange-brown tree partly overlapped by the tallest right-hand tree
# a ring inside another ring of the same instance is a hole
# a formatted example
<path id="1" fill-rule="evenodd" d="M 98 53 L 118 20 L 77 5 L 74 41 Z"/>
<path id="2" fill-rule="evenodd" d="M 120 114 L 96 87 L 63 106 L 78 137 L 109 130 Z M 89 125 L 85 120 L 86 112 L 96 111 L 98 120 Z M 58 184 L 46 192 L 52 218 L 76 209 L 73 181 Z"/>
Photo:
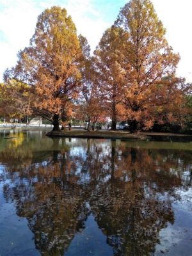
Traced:
<path id="1" fill-rule="evenodd" d="M 112 26 L 102 36 L 99 46 L 95 50 L 94 66 L 97 72 L 97 84 L 104 107 L 112 120 L 111 129 L 116 129 L 118 121 L 118 108 L 122 100 L 123 68 L 120 67 L 120 31 L 122 29 Z M 125 34 L 124 34 L 125 36 Z"/>

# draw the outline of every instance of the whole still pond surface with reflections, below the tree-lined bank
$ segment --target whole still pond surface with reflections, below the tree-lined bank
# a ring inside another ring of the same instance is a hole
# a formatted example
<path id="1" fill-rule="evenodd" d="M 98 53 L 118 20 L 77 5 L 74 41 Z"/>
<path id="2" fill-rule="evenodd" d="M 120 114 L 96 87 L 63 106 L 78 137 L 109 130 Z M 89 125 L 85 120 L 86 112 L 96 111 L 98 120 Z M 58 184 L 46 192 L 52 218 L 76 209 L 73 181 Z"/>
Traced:
<path id="1" fill-rule="evenodd" d="M 192 255 L 192 143 L 0 131 L 0 255 Z"/>

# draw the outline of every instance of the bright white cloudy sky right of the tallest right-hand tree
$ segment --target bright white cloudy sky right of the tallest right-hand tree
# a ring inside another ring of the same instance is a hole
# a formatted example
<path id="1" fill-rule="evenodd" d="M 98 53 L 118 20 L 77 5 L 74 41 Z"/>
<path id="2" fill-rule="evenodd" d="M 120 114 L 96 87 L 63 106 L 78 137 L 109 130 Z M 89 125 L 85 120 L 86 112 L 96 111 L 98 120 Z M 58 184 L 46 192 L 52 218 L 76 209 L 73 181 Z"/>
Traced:
<path id="1" fill-rule="evenodd" d="M 192 82 L 192 1 L 152 0 L 159 19 L 166 28 L 166 38 L 181 60 L 177 74 Z"/>

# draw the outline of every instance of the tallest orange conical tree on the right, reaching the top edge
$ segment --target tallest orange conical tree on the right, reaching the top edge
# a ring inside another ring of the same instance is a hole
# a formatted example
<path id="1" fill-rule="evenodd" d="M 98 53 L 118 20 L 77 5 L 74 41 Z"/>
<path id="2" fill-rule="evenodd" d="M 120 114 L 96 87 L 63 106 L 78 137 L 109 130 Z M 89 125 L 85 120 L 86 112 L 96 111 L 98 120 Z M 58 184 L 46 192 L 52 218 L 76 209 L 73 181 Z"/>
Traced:
<path id="1" fill-rule="evenodd" d="M 153 4 L 149 0 L 131 0 L 120 11 L 115 26 L 126 35 L 118 62 L 124 69 L 122 102 L 132 131 L 148 129 L 169 117 L 172 120 L 171 110 L 176 107 L 175 118 L 180 118 L 178 113 L 188 86 L 175 76 L 179 54 L 168 45 Z"/>

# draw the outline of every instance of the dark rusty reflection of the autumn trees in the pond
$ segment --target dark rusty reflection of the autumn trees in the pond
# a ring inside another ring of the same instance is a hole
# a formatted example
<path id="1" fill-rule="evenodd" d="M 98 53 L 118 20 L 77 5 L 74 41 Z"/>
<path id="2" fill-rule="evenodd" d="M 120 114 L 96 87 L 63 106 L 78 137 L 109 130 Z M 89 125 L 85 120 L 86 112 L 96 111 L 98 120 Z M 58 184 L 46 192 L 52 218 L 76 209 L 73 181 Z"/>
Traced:
<path id="1" fill-rule="evenodd" d="M 0 154 L 6 163 L 2 177 L 11 180 L 4 196 L 27 218 L 40 253 L 64 255 L 90 214 L 114 255 L 153 253 L 160 230 L 174 223 L 177 188 L 191 186 L 190 176 L 183 178 L 190 153 L 129 147 L 120 140 L 44 142 L 35 150 L 37 141 L 22 141 Z"/>

